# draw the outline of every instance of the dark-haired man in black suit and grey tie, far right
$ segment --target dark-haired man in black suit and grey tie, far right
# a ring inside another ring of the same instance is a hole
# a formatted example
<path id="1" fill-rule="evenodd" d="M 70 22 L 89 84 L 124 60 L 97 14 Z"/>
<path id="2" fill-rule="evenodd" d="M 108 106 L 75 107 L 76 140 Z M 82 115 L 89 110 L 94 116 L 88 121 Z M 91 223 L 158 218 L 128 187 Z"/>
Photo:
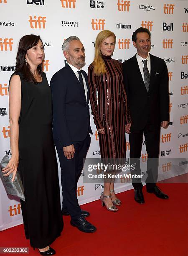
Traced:
<path id="1" fill-rule="evenodd" d="M 151 33 L 138 28 L 132 35 L 137 54 L 123 63 L 124 85 L 130 106 L 130 161 L 135 165 L 132 174 L 141 174 L 140 156 L 145 136 L 147 158 L 146 189 L 157 197 L 167 199 L 158 186 L 158 157 L 160 125 L 167 128 L 169 120 L 168 70 L 163 59 L 149 54 Z M 141 179 L 132 179 L 135 200 L 144 203 Z"/>

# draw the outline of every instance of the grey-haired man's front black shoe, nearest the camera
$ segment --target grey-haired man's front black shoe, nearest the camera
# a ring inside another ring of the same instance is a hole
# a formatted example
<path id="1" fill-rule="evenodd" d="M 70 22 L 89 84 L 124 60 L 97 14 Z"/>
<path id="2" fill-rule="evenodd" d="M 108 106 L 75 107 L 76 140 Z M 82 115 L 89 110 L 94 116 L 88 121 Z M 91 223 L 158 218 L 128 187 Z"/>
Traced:
<path id="1" fill-rule="evenodd" d="M 97 228 L 89 223 L 84 217 L 80 217 L 77 220 L 71 220 L 71 225 L 86 233 L 93 233 L 97 230 Z"/>

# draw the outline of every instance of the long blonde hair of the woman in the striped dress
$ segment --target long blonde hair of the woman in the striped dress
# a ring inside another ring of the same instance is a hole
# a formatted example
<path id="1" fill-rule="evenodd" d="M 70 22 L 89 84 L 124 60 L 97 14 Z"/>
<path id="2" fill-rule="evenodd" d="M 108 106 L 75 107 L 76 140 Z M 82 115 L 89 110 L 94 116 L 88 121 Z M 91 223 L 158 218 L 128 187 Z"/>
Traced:
<path id="1" fill-rule="evenodd" d="M 114 33 L 112 31 L 109 31 L 109 30 L 101 31 L 97 35 L 97 38 L 95 40 L 95 54 L 94 54 L 93 66 L 94 66 L 94 74 L 96 74 L 96 75 L 105 74 L 107 72 L 106 68 L 105 68 L 104 60 L 102 59 L 101 44 L 109 36 L 114 37 L 114 45 L 115 45 L 116 44 L 116 36 L 114 35 Z"/>

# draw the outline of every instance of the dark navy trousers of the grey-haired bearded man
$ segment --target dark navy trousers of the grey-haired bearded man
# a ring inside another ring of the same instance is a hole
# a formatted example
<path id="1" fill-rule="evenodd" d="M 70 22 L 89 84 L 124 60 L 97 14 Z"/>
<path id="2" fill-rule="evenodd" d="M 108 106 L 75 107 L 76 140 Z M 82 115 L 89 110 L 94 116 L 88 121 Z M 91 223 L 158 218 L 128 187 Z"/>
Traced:
<path id="1" fill-rule="evenodd" d="M 74 141 L 74 158 L 67 159 L 64 156 L 64 151 L 60 146 L 59 141 L 54 140 L 61 166 L 63 210 L 69 212 L 72 220 L 76 220 L 81 217 L 81 209 L 77 199 L 77 183 L 84 166 L 84 158 L 86 158 L 90 142 L 91 138 L 89 133 L 84 141 Z"/>

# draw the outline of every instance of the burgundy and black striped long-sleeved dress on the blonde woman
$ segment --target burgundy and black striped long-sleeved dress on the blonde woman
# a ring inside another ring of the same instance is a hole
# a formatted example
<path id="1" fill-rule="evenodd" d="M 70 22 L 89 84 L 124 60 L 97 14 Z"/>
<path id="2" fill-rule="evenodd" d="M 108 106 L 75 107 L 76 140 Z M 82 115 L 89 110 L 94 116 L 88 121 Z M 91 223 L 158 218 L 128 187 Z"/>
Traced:
<path id="1" fill-rule="evenodd" d="M 122 63 L 103 56 L 107 73 L 97 76 L 91 64 L 88 68 L 91 114 L 99 133 L 102 159 L 125 158 L 125 124 L 130 123 L 127 95 L 123 84 Z M 97 99 L 98 92 L 98 99 Z"/>

